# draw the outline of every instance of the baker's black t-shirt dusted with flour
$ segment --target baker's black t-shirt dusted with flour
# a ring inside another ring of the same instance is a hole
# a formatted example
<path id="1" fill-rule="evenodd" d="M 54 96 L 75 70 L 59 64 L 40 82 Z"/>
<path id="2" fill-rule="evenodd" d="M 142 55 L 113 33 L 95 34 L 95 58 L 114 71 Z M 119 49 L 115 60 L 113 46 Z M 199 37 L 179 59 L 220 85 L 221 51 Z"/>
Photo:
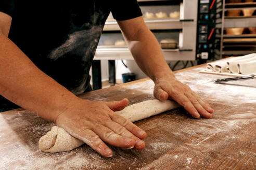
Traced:
<path id="1" fill-rule="evenodd" d="M 110 11 L 116 20 L 142 16 L 136 0 L 1 0 L 0 11 L 12 17 L 9 38 L 74 94 L 91 90 L 89 68 Z M 0 111 L 10 105 L 0 97 Z"/>

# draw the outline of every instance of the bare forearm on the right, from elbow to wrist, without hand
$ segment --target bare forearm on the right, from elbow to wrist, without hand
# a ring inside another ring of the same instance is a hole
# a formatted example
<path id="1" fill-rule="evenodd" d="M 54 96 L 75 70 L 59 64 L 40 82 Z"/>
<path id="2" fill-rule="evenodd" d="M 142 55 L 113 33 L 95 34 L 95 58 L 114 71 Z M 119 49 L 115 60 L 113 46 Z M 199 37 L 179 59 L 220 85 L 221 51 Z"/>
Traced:
<path id="1" fill-rule="evenodd" d="M 165 62 L 156 37 L 149 29 L 140 29 L 134 38 L 126 41 L 140 69 L 153 81 L 166 74 L 174 77 L 172 70 Z"/>

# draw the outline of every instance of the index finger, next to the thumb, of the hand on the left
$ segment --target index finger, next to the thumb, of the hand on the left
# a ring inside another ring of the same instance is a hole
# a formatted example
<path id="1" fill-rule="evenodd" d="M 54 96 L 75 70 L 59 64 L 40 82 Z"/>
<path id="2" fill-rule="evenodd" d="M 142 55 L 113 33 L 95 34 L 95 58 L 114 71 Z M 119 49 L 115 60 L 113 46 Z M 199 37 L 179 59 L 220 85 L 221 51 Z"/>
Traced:
<path id="1" fill-rule="evenodd" d="M 110 114 L 110 118 L 122 126 L 124 126 L 128 131 L 130 131 L 132 134 L 137 136 L 140 139 L 143 139 L 147 136 L 146 132 L 140 129 L 138 126 L 130 122 L 129 120 L 125 119 L 122 116 L 119 116 L 115 113 Z"/>

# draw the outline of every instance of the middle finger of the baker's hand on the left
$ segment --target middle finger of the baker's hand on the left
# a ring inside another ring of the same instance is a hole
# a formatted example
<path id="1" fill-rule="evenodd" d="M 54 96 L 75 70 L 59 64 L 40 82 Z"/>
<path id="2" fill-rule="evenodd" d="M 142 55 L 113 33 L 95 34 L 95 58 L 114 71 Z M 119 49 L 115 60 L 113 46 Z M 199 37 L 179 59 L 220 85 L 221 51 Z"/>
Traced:
<path id="1" fill-rule="evenodd" d="M 113 132 L 119 134 L 120 136 L 129 137 L 135 140 L 134 149 L 142 150 L 145 148 L 145 143 L 143 140 L 140 140 L 138 137 L 134 136 L 131 132 L 129 132 L 124 126 L 113 122 L 113 121 L 107 121 L 106 127 L 108 127 Z"/>

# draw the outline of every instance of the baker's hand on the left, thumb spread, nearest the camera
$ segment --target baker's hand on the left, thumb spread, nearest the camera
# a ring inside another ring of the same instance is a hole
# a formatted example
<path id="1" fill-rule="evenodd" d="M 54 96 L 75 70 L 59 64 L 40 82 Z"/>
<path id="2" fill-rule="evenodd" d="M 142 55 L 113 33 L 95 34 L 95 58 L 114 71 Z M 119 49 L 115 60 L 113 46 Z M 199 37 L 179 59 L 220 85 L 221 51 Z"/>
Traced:
<path id="1" fill-rule="evenodd" d="M 114 113 L 127 104 L 126 98 L 117 102 L 81 100 L 69 105 L 57 116 L 55 123 L 104 157 L 111 157 L 113 154 L 105 143 L 142 150 L 145 143 L 141 139 L 146 137 L 146 132 Z"/>

